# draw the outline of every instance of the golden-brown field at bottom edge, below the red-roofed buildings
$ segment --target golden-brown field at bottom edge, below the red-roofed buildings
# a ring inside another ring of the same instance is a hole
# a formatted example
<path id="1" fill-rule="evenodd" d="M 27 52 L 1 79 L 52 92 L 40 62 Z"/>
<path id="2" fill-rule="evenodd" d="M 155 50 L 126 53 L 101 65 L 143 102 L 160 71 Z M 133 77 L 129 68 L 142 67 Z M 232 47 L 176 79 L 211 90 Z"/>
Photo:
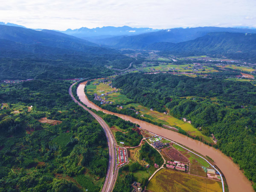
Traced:
<path id="1" fill-rule="evenodd" d="M 146 188 L 151 192 L 221 192 L 221 182 L 188 175 L 173 170 L 161 169 Z"/>

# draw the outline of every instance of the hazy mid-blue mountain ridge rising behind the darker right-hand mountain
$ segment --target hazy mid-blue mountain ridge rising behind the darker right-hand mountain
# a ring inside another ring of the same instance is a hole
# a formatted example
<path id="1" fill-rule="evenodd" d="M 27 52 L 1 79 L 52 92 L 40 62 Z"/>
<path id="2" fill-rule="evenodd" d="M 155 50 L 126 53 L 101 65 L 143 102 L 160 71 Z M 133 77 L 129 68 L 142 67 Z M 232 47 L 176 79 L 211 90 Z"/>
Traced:
<path id="1" fill-rule="evenodd" d="M 133 36 L 118 36 L 93 41 L 97 44 L 113 46 L 116 48 L 145 49 L 148 45 L 157 42 L 179 43 L 194 40 L 209 32 L 238 32 L 256 33 L 256 29 L 246 28 L 224 28 L 224 27 L 196 27 L 196 28 L 175 28 L 160 30 Z"/>

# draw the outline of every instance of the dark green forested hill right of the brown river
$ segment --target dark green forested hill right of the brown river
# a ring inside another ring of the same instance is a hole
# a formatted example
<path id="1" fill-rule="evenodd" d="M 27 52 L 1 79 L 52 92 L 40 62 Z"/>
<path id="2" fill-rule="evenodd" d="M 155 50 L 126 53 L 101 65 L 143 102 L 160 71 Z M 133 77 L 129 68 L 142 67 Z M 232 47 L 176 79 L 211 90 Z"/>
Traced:
<path id="1" fill-rule="evenodd" d="M 256 87 L 250 82 L 133 73 L 116 77 L 113 86 L 134 102 L 161 112 L 166 106 L 172 116 L 214 134 L 216 147 L 256 182 Z"/>

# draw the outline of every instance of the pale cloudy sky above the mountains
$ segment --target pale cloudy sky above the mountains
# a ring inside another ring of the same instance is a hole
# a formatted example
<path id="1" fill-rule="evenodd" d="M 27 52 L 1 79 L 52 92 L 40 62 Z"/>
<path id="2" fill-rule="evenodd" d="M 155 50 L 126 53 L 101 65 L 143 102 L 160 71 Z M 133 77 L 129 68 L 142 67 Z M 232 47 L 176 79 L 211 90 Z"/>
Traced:
<path id="1" fill-rule="evenodd" d="M 32 29 L 256 28 L 256 0 L 1 0 L 0 21 Z"/>

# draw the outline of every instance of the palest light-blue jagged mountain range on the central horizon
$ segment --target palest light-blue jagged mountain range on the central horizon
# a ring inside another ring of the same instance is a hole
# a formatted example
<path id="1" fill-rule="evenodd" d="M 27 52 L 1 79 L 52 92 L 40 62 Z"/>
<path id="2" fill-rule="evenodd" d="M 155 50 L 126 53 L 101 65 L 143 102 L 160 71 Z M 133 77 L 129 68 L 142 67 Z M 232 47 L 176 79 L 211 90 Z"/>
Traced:
<path id="1" fill-rule="evenodd" d="M 73 35 L 79 38 L 107 38 L 119 35 L 138 35 L 142 33 L 148 32 L 156 32 L 160 29 L 152 29 L 152 28 L 132 28 L 129 26 L 122 27 L 114 27 L 114 26 L 104 26 L 104 27 L 96 27 L 93 29 L 88 29 L 86 27 L 81 27 L 80 29 L 67 29 L 66 31 L 60 31 L 67 35 Z"/>

